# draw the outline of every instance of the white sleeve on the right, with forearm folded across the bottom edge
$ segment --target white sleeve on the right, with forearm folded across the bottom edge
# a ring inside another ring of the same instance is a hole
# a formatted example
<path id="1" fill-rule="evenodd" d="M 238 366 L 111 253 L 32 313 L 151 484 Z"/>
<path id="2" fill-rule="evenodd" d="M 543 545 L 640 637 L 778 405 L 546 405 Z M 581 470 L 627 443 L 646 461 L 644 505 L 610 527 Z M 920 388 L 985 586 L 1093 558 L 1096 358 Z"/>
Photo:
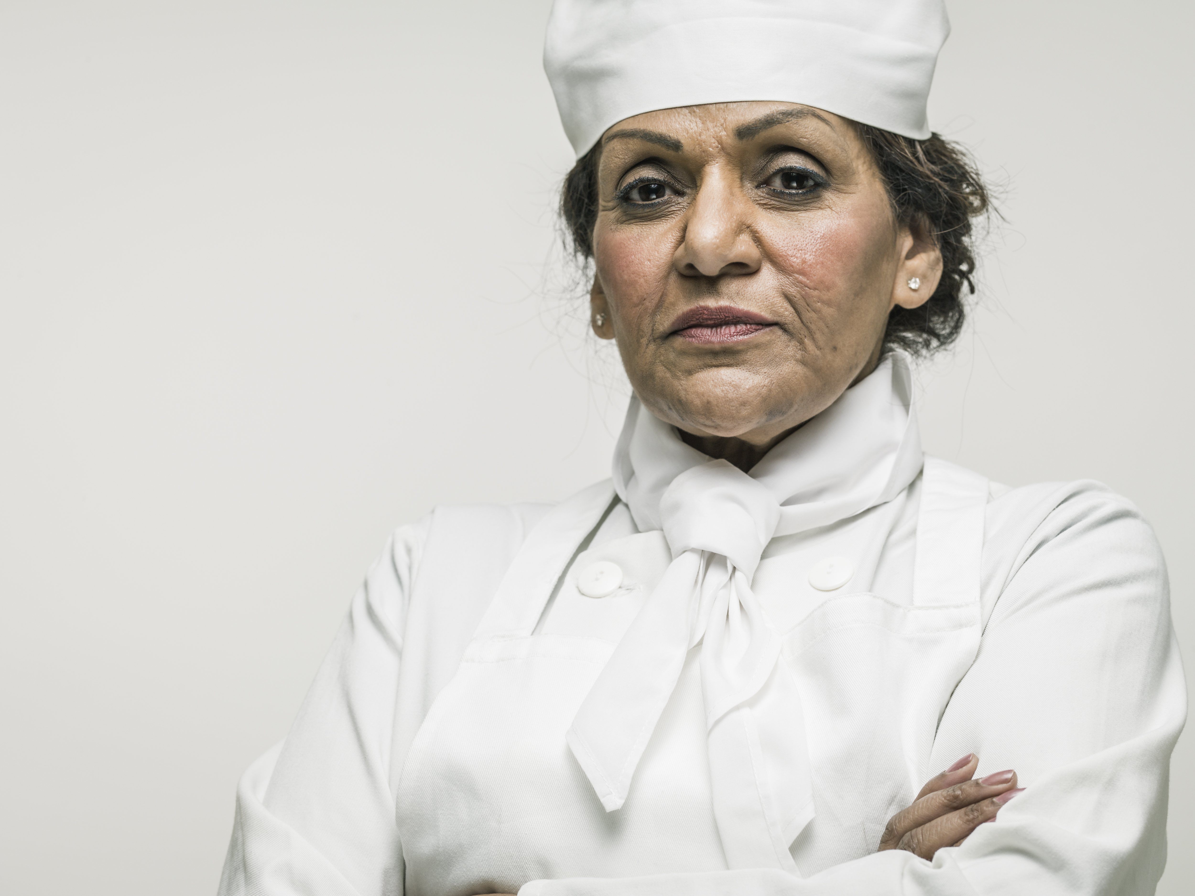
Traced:
<path id="1" fill-rule="evenodd" d="M 993 823 L 933 861 L 893 851 L 809 878 L 535 880 L 520 896 L 1153 892 L 1170 753 L 1187 714 L 1165 563 L 1136 510 L 1097 484 L 1067 486 L 1032 516 L 1041 522 L 1004 552 L 1016 559 L 933 748 L 937 767 L 974 750 L 987 769 L 1017 769 L 1025 792 Z"/>

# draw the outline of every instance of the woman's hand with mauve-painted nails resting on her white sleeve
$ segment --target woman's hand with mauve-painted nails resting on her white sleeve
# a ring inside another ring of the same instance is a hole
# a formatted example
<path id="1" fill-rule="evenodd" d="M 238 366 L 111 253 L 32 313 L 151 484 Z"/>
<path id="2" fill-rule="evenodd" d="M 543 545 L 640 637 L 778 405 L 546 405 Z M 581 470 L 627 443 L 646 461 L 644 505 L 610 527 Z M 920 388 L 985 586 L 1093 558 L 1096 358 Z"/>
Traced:
<path id="1" fill-rule="evenodd" d="M 995 818 L 1000 806 L 1021 793 L 1017 773 L 995 772 L 975 781 L 979 756 L 967 754 L 942 774 L 931 778 L 913 805 L 894 815 L 880 839 L 880 849 L 906 849 L 932 859 L 944 846 L 958 846 L 983 822 Z"/>

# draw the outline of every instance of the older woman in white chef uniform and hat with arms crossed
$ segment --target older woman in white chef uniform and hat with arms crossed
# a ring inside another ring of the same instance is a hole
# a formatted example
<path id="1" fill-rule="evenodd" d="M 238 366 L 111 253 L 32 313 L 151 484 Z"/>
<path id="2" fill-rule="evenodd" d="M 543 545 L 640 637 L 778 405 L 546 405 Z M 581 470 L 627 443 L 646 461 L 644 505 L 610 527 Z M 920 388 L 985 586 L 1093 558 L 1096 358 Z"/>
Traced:
<path id="1" fill-rule="evenodd" d="M 907 352 L 957 335 L 987 202 L 926 127 L 945 35 L 557 0 L 613 478 L 394 534 L 222 894 L 1153 891 L 1185 694 L 1150 527 L 918 440 Z"/>

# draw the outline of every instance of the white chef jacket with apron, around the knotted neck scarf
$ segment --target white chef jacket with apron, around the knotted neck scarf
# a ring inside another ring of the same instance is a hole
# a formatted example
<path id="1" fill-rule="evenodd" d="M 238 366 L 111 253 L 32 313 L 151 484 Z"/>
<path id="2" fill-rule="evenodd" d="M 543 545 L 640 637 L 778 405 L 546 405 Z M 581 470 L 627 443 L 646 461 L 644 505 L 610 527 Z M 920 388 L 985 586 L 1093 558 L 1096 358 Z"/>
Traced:
<path id="1" fill-rule="evenodd" d="M 925 480 L 773 539 L 755 573 L 772 625 L 798 644 L 788 661 L 809 695 L 817 815 L 792 845 L 801 876 L 727 867 L 692 657 L 617 812 L 569 766 L 563 730 L 509 748 L 537 725 L 566 726 L 576 695 L 552 705 L 549 661 L 588 657 L 596 673 L 670 559 L 602 483 L 554 508 L 439 508 L 394 534 L 290 732 L 240 783 L 221 896 L 1152 892 L 1185 718 L 1152 530 L 1096 483 L 989 486 L 976 620 L 955 626 L 966 662 L 939 682 L 936 719 L 911 747 L 903 717 L 925 695 L 900 682 L 933 650 L 909 622 L 933 609 L 913 590 Z M 810 587 L 832 554 L 854 565 L 850 583 Z M 566 575 L 537 581 L 551 556 Z M 624 570 L 621 599 L 578 591 L 595 560 Z M 565 646 L 540 651 L 519 679 L 529 689 L 509 694 L 497 674 L 509 657 L 483 656 L 484 644 L 479 655 L 474 633 L 495 594 L 523 587 L 552 591 L 527 643 Z M 934 637 L 954 637 L 945 610 Z M 981 774 L 1016 768 L 1025 792 L 933 861 L 875 853 L 887 820 L 967 753 Z"/>

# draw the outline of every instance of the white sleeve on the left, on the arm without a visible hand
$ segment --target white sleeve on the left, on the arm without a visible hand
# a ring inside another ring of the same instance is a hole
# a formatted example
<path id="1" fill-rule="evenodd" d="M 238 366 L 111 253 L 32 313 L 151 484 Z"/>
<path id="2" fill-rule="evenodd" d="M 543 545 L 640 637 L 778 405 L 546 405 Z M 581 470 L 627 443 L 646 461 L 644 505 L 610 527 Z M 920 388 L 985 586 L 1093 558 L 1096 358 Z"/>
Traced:
<path id="1" fill-rule="evenodd" d="M 399 896 L 391 739 L 410 587 L 428 521 L 391 538 L 286 739 L 237 788 L 220 896 Z"/>

